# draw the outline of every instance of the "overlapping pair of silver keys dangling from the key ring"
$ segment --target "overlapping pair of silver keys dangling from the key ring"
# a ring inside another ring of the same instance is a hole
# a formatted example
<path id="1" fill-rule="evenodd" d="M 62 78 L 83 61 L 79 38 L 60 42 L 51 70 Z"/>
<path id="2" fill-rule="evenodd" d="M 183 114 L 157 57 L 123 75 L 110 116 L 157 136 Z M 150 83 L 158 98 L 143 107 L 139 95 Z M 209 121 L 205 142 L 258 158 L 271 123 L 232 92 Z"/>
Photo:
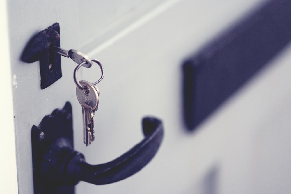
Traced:
<path id="1" fill-rule="evenodd" d="M 84 143 L 88 146 L 94 140 L 93 117 L 95 111 L 98 109 L 99 89 L 94 84 L 85 80 L 81 80 L 80 84 L 84 89 L 77 87 L 76 94 L 83 111 Z"/>

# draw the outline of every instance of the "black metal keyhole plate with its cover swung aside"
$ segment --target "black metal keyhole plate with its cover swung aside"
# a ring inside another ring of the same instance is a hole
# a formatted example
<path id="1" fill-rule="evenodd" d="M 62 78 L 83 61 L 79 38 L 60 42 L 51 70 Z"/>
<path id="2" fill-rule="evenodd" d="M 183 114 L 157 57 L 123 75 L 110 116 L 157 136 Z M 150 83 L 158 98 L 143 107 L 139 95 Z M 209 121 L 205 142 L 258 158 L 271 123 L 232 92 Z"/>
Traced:
<path id="1" fill-rule="evenodd" d="M 21 60 L 26 63 L 40 61 L 41 89 L 62 77 L 61 56 L 50 51 L 50 46 L 60 47 L 60 25 L 49 26 L 36 34 L 24 49 Z"/>

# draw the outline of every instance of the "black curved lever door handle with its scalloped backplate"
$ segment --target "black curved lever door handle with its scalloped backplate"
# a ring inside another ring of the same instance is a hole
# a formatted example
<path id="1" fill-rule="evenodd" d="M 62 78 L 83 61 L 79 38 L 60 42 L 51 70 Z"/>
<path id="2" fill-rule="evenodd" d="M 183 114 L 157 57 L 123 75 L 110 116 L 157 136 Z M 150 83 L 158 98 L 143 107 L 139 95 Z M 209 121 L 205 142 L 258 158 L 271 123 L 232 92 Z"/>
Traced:
<path id="1" fill-rule="evenodd" d="M 90 165 L 73 149 L 70 103 L 55 109 L 31 129 L 34 193 L 72 194 L 80 180 L 109 184 L 138 172 L 155 156 L 164 133 L 158 119 L 144 118 L 142 125 L 145 138 L 139 144 L 111 162 Z"/>

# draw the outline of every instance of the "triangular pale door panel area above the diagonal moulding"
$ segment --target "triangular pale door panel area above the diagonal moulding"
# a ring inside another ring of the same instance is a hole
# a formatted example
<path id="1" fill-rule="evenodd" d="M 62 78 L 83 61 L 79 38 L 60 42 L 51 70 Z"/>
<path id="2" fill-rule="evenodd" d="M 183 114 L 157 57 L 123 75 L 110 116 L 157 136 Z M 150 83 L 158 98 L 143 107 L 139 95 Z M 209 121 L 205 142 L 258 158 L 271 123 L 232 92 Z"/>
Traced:
<path id="1" fill-rule="evenodd" d="M 163 0 L 78 1 L 80 47 L 90 52 Z M 84 14 L 88 13 L 88 14 Z"/>

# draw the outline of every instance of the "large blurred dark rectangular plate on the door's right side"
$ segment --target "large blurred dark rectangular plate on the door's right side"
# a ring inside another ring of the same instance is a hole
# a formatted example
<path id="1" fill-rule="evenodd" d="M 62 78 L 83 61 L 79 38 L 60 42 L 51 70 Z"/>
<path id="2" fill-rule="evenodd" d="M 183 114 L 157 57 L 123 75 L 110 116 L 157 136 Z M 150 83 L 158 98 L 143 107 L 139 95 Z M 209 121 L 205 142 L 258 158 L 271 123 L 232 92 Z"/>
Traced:
<path id="1" fill-rule="evenodd" d="M 269 1 L 187 59 L 184 118 L 193 130 L 291 40 L 291 1 Z"/>

